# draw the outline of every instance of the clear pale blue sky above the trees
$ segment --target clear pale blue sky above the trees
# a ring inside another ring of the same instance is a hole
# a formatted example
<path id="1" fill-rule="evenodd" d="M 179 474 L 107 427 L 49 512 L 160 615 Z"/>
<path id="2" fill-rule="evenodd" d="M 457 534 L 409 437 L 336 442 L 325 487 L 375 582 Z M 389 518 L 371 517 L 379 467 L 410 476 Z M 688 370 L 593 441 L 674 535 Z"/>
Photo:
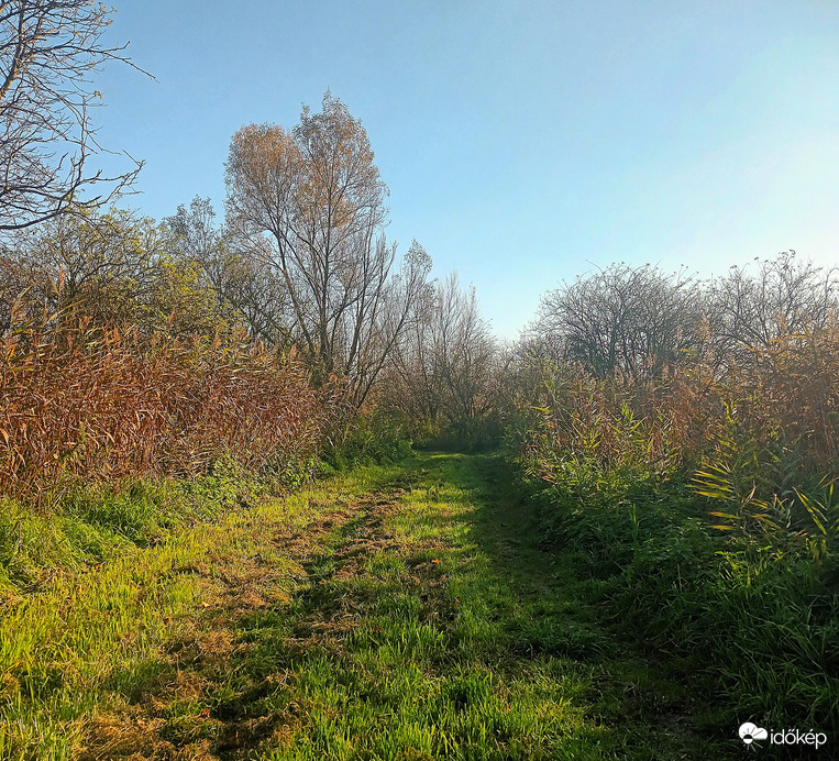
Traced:
<path id="1" fill-rule="evenodd" d="M 388 236 L 473 283 L 505 338 L 615 261 L 839 264 L 837 0 L 113 4 L 108 41 L 156 81 L 110 65 L 95 120 L 146 162 L 122 205 L 155 219 L 196 195 L 221 218 L 235 130 L 290 128 L 329 88 L 367 130 Z"/>

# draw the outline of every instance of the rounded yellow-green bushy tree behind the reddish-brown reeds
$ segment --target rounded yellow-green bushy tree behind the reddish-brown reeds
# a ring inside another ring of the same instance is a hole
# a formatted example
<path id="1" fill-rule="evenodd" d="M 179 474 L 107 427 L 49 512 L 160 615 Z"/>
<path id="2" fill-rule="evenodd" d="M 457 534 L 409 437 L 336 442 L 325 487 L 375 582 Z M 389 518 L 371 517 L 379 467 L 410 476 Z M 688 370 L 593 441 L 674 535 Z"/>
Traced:
<path id="1" fill-rule="evenodd" d="M 128 211 L 59 217 L 21 233 L 2 262 L 0 312 L 14 305 L 37 320 L 46 309 L 65 324 L 131 324 L 144 334 L 224 331 L 227 315 L 199 264 L 175 261 L 170 247 L 165 230 Z"/>

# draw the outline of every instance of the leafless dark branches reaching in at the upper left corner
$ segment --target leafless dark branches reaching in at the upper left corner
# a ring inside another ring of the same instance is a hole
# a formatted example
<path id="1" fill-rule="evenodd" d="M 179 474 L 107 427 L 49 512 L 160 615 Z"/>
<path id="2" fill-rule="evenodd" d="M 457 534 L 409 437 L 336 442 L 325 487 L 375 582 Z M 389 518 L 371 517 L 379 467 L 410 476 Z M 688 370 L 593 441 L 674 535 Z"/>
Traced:
<path id="1" fill-rule="evenodd" d="M 108 60 L 136 68 L 125 45 L 101 43 L 109 14 L 90 0 L 0 0 L 0 231 L 101 206 L 136 177 L 134 159 L 114 177 L 86 170 L 102 150 L 91 75 Z"/>

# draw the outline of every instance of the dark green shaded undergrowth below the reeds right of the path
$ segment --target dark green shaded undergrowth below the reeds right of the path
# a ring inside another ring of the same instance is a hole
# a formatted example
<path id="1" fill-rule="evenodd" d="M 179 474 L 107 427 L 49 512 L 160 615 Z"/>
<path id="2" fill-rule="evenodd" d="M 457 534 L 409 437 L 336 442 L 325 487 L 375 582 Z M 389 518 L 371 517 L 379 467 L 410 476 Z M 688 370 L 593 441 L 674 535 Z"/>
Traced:
<path id="1" fill-rule="evenodd" d="M 607 580 L 600 609 L 616 631 L 706 685 L 726 721 L 830 726 L 835 562 L 817 560 L 813 541 L 787 541 L 782 552 L 764 532 L 715 531 L 684 481 L 622 484 L 620 499 L 614 484 L 609 498 L 586 498 L 582 485 L 592 483 L 554 484 L 537 498 L 547 540 L 574 552 L 581 573 Z"/>

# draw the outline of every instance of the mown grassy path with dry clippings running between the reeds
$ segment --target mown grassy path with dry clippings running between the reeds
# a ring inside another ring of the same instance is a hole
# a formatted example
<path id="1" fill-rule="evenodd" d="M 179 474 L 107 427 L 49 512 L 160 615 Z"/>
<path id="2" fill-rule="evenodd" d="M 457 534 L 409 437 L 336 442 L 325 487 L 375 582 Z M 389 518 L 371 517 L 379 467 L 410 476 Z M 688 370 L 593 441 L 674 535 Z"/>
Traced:
<path id="1" fill-rule="evenodd" d="M 505 467 L 421 455 L 228 521 L 155 576 L 187 603 L 89 680 L 73 742 L 8 757 L 726 758 L 540 551 Z"/>

